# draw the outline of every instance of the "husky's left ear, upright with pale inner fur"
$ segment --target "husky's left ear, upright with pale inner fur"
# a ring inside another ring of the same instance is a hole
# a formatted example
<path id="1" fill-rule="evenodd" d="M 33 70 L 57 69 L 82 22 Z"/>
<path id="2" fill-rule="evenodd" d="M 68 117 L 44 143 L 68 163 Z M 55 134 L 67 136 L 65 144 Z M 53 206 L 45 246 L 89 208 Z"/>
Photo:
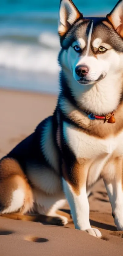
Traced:
<path id="1" fill-rule="evenodd" d="M 59 35 L 63 36 L 80 16 L 82 16 L 81 13 L 71 0 L 61 0 L 58 20 Z"/>

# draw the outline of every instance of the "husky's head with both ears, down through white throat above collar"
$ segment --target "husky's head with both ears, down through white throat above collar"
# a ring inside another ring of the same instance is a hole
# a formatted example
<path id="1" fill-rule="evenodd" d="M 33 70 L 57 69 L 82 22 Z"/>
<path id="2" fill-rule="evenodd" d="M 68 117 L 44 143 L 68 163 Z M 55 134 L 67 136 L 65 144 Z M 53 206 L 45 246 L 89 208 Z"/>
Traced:
<path id="1" fill-rule="evenodd" d="M 123 0 L 106 18 L 84 18 L 71 0 L 61 0 L 58 32 L 60 65 L 79 105 L 99 114 L 116 109 L 123 91 Z"/>

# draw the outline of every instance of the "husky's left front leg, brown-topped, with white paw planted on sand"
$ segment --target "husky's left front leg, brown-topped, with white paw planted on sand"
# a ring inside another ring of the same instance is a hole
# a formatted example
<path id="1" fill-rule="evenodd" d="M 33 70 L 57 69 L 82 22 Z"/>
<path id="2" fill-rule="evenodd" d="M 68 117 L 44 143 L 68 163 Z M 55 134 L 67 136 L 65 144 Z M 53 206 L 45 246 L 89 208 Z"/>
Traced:
<path id="1" fill-rule="evenodd" d="M 81 177 L 80 179 L 78 178 L 79 170 L 81 169 L 84 172 L 83 167 L 79 166 L 79 164 L 76 167 L 78 168 L 75 170 L 74 165 L 74 170 L 70 171 L 70 175 L 68 172 L 63 172 L 63 189 L 71 208 L 75 228 L 86 231 L 92 236 L 100 237 L 100 231 L 98 229 L 92 229 L 90 226 L 86 179 L 84 179 L 82 184 Z"/>

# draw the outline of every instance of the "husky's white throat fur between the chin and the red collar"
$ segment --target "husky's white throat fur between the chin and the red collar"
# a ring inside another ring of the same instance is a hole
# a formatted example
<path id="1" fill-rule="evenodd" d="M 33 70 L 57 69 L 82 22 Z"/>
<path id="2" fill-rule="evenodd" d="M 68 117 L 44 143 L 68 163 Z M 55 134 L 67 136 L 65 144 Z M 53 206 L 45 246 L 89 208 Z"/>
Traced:
<path id="1" fill-rule="evenodd" d="M 79 108 L 96 115 L 115 111 L 122 100 L 123 76 L 119 73 L 107 76 L 95 85 L 83 86 L 75 81 L 71 71 L 63 68 L 66 86 L 69 87 Z M 62 87 L 62 85 L 61 85 Z"/>

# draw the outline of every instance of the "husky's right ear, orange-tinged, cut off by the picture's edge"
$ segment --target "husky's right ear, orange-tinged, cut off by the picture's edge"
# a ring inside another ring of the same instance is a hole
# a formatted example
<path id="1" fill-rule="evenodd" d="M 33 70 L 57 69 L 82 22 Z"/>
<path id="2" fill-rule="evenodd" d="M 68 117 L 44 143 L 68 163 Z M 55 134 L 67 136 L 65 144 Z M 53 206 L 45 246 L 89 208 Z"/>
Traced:
<path id="1" fill-rule="evenodd" d="M 123 0 L 120 0 L 114 9 L 107 15 L 114 29 L 123 37 Z"/>

